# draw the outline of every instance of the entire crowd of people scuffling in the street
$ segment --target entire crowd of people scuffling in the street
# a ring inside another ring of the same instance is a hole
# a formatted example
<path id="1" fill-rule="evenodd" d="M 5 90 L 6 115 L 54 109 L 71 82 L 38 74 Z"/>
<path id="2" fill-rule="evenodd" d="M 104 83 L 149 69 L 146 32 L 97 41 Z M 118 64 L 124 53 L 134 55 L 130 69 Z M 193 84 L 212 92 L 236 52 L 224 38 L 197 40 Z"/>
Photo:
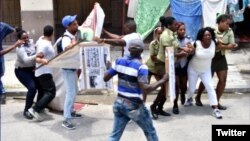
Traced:
<path id="1" fill-rule="evenodd" d="M 62 36 L 62 49 L 68 50 L 77 43 L 78 23 L 76 15 L 67 15 L 62 19 L 65 33 Z M 149 44 L 150 56 L 143 60 L 144 43 L 141 35 L 136 32 L 136 23 L 128 20 L 124 24 L 125 35 L 116 35 L 103 29 L 106 38 L 95 37 L 98 43 L 108 43 L 123 47 L 120 58 L 109 65 L 104 74 L 104 81 L 110 80 L 118 75 L 118 95 L 113 105 L 114 126 L 109 141 L 119 140 L 126 124 L 133 120 L 144 131 L 148 140 L 158 140 L 152 119 L 158 116 L 171 116 L 164 111 L 164 103 L 167 100 L 166 82 L 168 74 L 165 70 L 165 49 L 174 47 L 175 56 L 175 91 L 176 97 L 173 102 L 173 114 L 179 114 L 178 99 L 182 105 L 188 107 L 193 105 L 193 94 L 198 79 L 201 84 L 195 97 L 197 106 L 202 106 L 201 94 L 204 89 L 208 93 L 209 103 L 213 114 L 217 119 L 222 118 L 220 110 L 226 110 L 219 103 L 226 86 L 227 61 L 225 52 L 227 49 L 237 47 L 234 34 L 229 27 L 230 16 L 223 14 L 217 17 L 217 27 L 201 28 L 196 39 L 186 35 L 186 27 L 183 22 L 176 21 L 173 17 L 161 17 L 161 26 L 153 31 L 154 39 Z M 1 44 L 0 44 L 0 75 L 4 74 L 3 55 L 16 49 L 15 75 L 26 88 L 26 101 L 23 115 L 26 119 L 42 121 L 40 116 L 44 108 L 56 95 L 56 86 L 53 81 L 51 68 L 47 67 L 48 61 L 56 55 L 52 46 L 54 29 L 47 25 L 43 29 L 43 35 L 35 43 L 29 38 L 26 31 L 14 29 L 6 23 L 1 22 Z M 2 40 L 12 32 L 17 35 L 17 42 L 9 48 L 2 48 Z M 35 69 L 41 66 L 39 69 Z M 216 89 L 213 88 L 212 77 L 216 73 L 219 82 Z M 63 68 L 62 77 L 66 88 L 62 126 L 67 129 L 75 129 L 72 122 L 74 117 L 81 114 L 73 110 L 73 103 L 77 94 L 78 70 L 75 68 Z M 157 80 L 151 83 L 151 77 Z M 187 87 L 188 86 L 188 87 Z M 150 112 L 145 107 L 147 94 L 156 88 L 160 90 L 150 105 Z M 186 94 L 187 93 L 187 94 Z M 1 103 L 4 103 L 5 90 L 0 81 Z M 34 98 L 37 94 L 36 103 Z"/>

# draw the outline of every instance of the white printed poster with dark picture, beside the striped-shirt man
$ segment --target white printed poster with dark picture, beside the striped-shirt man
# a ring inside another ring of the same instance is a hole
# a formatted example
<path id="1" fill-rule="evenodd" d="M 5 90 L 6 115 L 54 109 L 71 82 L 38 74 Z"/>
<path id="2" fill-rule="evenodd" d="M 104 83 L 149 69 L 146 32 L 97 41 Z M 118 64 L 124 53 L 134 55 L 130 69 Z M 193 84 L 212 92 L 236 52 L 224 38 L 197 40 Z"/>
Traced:
<path id="1" fill-rule="evenodd" d="M 107 45 L 85 46 L 82 49 L 82 70 L 86 89 L 112 89 L 112 80 L 103 81 L 110 61 L 110 48 Z"/>

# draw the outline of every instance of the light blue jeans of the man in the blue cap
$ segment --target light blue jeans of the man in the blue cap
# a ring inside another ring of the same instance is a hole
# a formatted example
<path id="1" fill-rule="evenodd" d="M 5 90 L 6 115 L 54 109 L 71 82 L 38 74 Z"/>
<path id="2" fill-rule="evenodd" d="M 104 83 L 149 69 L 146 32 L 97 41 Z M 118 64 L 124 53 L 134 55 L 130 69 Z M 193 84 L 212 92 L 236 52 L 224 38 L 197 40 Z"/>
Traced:
<path id="1" fill-rule="evenodd" d="M 63 108 L 63 117 L 65 120 L 71 119 L 75 97 L 77 94 L 77 73 L 74 69 L 62 69 L 64 84 L 66 88 L 66 96 Z"/>

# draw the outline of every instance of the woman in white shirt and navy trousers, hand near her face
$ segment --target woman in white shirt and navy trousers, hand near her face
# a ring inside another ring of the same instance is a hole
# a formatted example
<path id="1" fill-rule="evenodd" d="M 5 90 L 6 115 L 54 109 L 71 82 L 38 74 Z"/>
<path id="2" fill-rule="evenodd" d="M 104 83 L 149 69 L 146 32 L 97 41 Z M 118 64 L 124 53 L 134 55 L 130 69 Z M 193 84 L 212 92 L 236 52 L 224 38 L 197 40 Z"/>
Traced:
<path id="1" fill-rule="evenodd" d="M 41 95 L 41 89 L 38 85 L 34 71 L 36 64 L 36 48 L 33 40 L 29 39 L 26 31 L 18 31 L 17 38 L 22 40 L 24 44 L 16 48 L 17 59 L 15 62 L 15 75 L 17 79 L 28 89 L 23 116 L 26 119 L 32 119 L 33 116 L 29 114 L 28 109 L 33 105 L 33 100 L 37 90 L 37 99 L 39 99 Z"/>

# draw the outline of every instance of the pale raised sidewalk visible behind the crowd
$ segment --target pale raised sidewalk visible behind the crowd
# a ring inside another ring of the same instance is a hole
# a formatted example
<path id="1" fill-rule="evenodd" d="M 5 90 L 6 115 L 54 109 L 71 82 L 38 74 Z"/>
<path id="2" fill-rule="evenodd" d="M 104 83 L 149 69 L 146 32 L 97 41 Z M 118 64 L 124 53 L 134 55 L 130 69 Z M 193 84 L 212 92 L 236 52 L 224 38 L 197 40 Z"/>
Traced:
<path id="1" fill-rule="evenodd" d="M 149 51 L 144 50 L 143 60 L 149 58 Z M 121 50 L 119 47 L 111 48 L 111 58 L 115 60 L 121 56 Z M 250 47 L 239 47 L 236 51 L 228 51 L 226 54 L 229 64 L 228 78 L 225 92 L 226 93 L 245 93 L 250 92 Z M 15 51 L 5 55 L 5 67 L 6 72 L 2 78 L 6 91 L 9 95 L 23 95 L 26 89 L 20 84 L 14 74 L 14 64 L 16 59 Z M 243 72 L 243 73 L 242 73 Z M 117 80 L 114 80 L 116 85 Z M 214 77 L 214 86 L 218 82 L 217 77 Z"/>

